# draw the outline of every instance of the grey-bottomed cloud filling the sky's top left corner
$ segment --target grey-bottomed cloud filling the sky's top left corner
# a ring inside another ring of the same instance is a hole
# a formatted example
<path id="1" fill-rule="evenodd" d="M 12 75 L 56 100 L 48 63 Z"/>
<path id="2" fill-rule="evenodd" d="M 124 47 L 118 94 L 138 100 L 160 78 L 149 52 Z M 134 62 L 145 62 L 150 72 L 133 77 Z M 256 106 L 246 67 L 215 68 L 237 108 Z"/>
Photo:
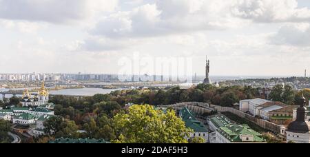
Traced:
<path id="1" fill-rule="evenodd" d="M 0 0 L 0 18 L 70 23 L 94 13 L 112 12 L 117 0 Z"/>

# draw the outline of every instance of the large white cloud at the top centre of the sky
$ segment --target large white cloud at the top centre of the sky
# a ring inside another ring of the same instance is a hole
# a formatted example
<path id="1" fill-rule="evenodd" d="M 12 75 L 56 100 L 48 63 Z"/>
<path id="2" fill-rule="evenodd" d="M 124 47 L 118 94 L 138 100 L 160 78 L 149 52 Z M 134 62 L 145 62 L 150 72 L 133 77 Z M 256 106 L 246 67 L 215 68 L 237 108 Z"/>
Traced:
<path id="1" fill-rule="evenodd" d="M 90 32 L 116 38 L 242 27 L 245 22 L 227 12 L 230 6 L 231 0 L 158 0 L 130 11 L 110 14 Z"/>

